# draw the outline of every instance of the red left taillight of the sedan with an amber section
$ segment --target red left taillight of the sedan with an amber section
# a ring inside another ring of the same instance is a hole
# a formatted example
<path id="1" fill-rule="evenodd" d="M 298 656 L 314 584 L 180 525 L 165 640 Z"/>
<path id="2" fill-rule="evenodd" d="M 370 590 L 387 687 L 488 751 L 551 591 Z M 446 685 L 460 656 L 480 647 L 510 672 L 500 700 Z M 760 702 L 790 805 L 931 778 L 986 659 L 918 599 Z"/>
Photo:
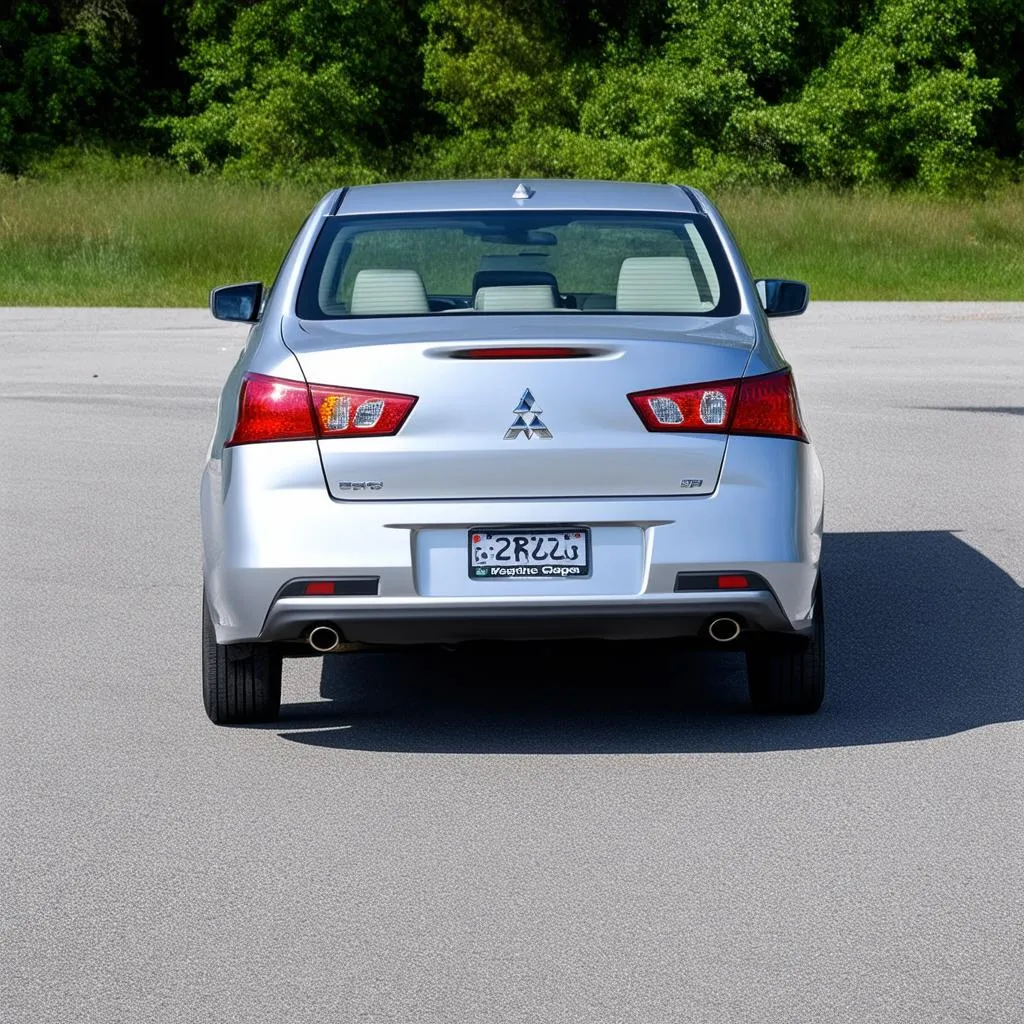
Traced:
<path id="1" fill-rule="evenodd" d="M 239 420 L 228 445 L 315 437 L 395 434 L 416 404 L 410 394 L 306 385 L 264 374 L 246 374 Z"/>

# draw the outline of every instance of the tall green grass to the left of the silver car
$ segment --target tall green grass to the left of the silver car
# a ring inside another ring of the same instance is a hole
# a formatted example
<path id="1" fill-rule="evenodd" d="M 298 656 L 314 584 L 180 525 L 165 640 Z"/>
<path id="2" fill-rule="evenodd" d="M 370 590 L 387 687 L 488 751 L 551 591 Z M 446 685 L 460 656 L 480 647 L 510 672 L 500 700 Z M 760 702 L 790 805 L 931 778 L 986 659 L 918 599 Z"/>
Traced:
<path id="1" fill-rule="evenodd" d="M 0 178 L 0 304 L 203 305 L 272 280 L 316 198 L 159 165 Z"/>

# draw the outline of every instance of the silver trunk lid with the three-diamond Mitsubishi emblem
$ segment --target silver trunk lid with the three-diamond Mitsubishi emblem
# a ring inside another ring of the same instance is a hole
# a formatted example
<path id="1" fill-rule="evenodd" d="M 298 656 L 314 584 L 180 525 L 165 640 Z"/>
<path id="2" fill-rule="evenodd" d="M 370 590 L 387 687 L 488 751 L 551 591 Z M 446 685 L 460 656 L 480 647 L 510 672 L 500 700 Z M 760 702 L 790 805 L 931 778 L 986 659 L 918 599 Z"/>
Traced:
<path id="1" fill-rule="evenodd" d="M 311 384 L 417 395 L 391 437 L 319 441 L 331 495 L 408 501 L 710 494 L 721 434 L 648 432 L 627 394 L 742 376 L 750 317 L 434 315 L 286 321 Z M 412 340 L 415 339 L 415 340 Z M 573 358 L 476 359 L 529 345 Z"/>

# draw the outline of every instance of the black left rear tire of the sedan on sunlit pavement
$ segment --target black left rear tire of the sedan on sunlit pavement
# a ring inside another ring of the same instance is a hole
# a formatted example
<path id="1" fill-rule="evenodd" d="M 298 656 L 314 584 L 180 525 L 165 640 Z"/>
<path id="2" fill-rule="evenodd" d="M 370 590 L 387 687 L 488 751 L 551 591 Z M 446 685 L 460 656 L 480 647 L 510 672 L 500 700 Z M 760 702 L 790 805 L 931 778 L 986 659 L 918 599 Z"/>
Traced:
<path id="1" fill-rule="evenodd" d="M 280 649 L 219 644 L 203 594 L 203 705 L 217 725 L 272 722 L 281 712 Z"/>

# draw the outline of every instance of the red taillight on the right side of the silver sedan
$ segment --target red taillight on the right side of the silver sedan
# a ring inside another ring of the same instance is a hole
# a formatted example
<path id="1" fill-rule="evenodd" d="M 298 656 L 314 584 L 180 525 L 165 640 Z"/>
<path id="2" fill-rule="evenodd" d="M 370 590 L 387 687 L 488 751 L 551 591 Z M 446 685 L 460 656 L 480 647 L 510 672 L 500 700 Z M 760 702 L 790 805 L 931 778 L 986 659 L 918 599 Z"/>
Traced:
<path id="1" fill-rule="evenodd" d="M 634 391 L 629 396 L 644 426 L 672 433 L 759 434 L 807 440 L 793 374 L 713 381 Z"/>

